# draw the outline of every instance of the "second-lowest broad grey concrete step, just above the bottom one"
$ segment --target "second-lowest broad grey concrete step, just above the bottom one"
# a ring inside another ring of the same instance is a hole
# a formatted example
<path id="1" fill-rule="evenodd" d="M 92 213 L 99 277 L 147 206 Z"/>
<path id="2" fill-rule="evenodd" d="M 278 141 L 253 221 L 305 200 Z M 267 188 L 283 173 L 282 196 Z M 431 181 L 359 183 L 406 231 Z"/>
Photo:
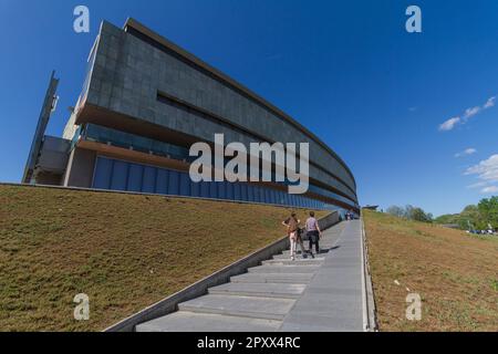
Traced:
<path id="1" fill-rule="evenodd" d="M 209 294 L 178 305 L 179 311 L 282 321 L 295 300 Z"/>

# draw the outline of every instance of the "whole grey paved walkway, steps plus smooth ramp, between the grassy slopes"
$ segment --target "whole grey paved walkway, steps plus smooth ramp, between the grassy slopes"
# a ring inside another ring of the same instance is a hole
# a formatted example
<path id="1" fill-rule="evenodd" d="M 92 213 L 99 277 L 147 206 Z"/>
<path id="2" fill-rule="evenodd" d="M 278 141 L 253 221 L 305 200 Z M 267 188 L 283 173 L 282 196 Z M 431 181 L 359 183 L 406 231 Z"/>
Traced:
<path id="1" fill-rule="evenodd" d="M 274 256 L 136 331 L 363 331 L 361 221 L 332 227 L 320 246 L 329 252 L 295 261 L 289 251 Z"/>

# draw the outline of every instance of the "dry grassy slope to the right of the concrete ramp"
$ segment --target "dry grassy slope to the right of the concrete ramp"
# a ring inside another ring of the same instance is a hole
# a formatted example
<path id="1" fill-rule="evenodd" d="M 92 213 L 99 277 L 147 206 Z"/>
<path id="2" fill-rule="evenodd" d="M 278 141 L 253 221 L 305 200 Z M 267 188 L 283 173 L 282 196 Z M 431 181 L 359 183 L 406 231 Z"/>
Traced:
<path id="1" fill-rule="evenodd" d="M 381 331 L 498 331 L 496 238 L 372 211 L 364 218 Z M 406 320 L 406 288 L 423 299 L 419 322 Z"/>

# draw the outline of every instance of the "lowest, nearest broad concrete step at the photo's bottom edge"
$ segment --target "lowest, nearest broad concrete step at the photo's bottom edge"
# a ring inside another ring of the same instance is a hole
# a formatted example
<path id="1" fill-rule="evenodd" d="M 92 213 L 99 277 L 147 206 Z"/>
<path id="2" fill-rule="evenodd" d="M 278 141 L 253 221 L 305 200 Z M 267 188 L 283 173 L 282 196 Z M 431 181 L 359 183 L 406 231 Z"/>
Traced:
<path id="1" fill-rule="evenodd" d="M 276 332 L 281 321 L 178 311 L 136 326 L 136 332 Z"/>

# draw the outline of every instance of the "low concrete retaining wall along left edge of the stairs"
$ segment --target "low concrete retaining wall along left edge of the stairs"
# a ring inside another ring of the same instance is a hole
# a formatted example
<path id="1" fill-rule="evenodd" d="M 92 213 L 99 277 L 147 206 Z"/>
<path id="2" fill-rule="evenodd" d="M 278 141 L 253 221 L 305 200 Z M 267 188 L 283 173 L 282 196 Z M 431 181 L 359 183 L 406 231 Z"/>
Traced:
<path id="1" fill-rule="evenodd" d="M 326 217 L 319 220 L 321 229 L 328 229 L 340 221 L 339 212 L 333 211 Z M 194 283 L 193 285 L 142 310 L 141 312 L 107 327 L 104 332 L 133 332 L 139 323 L 152 321 L 154 319 L 165 316 L 177 311 L 178 304 L 207 293 L 209 288 L 227 283 L 231 277 L 242 274 L 248 268 L 257 267 L 262 261 L 271 259 L 289 249 L 289 238 L 284 237 L 272 244 L 256 251 L 252 254 L 217 271 L 216 273 Z"/>

